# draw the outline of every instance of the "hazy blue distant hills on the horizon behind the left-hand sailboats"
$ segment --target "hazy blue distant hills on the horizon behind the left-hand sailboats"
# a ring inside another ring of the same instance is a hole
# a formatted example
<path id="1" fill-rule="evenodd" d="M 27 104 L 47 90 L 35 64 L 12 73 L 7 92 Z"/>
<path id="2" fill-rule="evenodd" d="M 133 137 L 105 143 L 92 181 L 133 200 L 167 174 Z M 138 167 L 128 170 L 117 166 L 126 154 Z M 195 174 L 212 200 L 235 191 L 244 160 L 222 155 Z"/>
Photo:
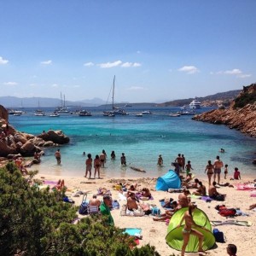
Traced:
<path id="1" fill-rule="evenodd" d="M 99 98 L 91 100 L 83 100 L 79 102 L 66 101 L 66 107 L 96 107 L 105 103 Z M 42 97 L 15 97 L 15 96 L 0 96 L 0 104 L 5 108 L 37 108 L 39 107 L 58 107 L 61 106 L 61 100 L 57 98 L 42 98 Z"/>

